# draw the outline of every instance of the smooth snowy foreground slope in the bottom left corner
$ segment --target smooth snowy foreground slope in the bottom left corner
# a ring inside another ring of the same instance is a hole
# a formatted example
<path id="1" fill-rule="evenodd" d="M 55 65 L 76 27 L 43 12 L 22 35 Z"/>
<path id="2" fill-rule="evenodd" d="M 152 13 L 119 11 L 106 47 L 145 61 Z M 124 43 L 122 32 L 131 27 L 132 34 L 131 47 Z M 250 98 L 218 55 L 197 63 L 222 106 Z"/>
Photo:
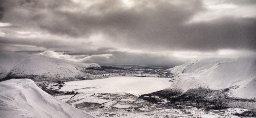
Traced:
<path id="1" fill-rule="evenodd" d="M 63 103 L 30 79 L 0 82 L 1 118 L 93 118 Z"/>

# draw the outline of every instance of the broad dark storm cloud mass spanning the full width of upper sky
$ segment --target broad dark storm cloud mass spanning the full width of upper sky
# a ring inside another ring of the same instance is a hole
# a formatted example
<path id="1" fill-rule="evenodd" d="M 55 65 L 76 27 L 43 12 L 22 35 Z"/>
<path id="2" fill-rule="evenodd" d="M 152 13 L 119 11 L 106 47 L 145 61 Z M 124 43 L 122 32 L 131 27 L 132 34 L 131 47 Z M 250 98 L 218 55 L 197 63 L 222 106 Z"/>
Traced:
<path id="1" fill-rule="evenodd" d="M 53 34 L 75 38 L 103 32 L 111 40 L 125 42 L 135 49 L 255 49 L 253 44 L 256 44 L 252 32 L 256 30 L 255 18 L 226 17 L 186 24 L 194 14 L 206 10 L 198 0 L 180 5 L 142 0 L 135 1 L 132 8 L 121 7 L 120 0 L 102 0 L 85 9 L 70 0 L 1 2 L 6 9 L 3 21 L 38 26 Z M 85 11 L 69 11 L 72 8 Z M 53 44 L 45 42 L 44 46 Z"/>

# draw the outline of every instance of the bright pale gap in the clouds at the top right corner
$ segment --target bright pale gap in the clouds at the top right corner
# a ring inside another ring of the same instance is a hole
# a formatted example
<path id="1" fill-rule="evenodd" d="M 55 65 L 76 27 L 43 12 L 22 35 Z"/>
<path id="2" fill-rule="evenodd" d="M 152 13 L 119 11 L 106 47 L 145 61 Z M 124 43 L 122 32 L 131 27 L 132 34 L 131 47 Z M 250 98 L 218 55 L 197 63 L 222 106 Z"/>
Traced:
<path id="1" fill-rule="evenodd" d="M 187 23 L 212 21 L 221 17 L 256 18 L 255 4 L 243 6 L 241 4 L 225 3 L 221 0 L 203 0 L 206 10 L 196 13 Z M 245 2 L 246 3 L 246 2 Z"/>

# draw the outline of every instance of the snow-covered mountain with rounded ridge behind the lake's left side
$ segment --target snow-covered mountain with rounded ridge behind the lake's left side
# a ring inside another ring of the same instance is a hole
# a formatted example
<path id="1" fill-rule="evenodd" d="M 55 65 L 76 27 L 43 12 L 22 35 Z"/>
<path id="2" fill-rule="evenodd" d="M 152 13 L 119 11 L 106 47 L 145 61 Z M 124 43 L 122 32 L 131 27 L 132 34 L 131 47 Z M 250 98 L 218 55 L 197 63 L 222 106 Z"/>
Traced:
<path id="1" fill-rule="evenodd" d="M 78 63 L 43 55 L 0 51 L 0 79 L 63 79 L 86 76 L 86 68 L 101 68 L 96 63 Z"/>

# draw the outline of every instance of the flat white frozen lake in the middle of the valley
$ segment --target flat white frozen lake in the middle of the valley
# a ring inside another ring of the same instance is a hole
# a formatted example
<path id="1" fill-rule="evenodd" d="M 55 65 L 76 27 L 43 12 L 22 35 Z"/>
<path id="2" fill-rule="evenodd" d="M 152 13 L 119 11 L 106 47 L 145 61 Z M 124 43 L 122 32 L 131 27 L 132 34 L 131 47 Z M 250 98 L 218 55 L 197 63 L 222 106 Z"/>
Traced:
<path id="1" fill-rule="evenodd" d="M 78 92 L 92 93 L 119 93 L 125 92 L 138 96 L 163 90 L 171 85 L 170 78 L 157 77 L 110 77 L 96 80 L 67 81 L 61 91 L 77 90 Z"/>

